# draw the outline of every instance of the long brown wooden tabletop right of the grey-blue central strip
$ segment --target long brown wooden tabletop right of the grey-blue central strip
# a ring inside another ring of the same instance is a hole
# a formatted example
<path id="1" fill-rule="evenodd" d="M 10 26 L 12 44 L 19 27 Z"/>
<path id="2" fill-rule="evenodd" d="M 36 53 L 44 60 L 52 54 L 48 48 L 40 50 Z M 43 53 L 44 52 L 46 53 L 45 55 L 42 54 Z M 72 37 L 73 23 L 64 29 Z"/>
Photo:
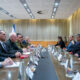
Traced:
<path id="1" fill-rule="evenodd" d="M 56 71 L 56 74 L 58 76 L 58 80 L 72 80 L 71 78 L 68 78 L 66 77 L 66 72 L 65 72 L 65 69 L 63 66 L 60 65 L 60 62 L 55 60 L 54 57 L 53 57 L 53 54 L 50 54 L 50 57 L 51 57 L 51 60 L 54 64 L 54 67 L 55 67 L 55 71 Z M 73 60 L 74 62 L 78 62 L 78 63 L 75 63 L 74 66 L 76 66 L 80 72 L 80 61 L 78 60 L 77 57 L 73 56 Z"/>

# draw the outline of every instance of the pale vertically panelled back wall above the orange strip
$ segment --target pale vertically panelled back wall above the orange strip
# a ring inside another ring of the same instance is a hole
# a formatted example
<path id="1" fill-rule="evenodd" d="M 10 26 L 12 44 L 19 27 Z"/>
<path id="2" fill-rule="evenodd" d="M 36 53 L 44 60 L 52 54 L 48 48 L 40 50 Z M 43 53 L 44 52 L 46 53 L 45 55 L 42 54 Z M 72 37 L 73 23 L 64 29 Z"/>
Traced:
<path id="1" fill-rule="evenodd" d="M 31 19 L 31 20 L 1 20 L 0 29 L 11 32 L 12 24 L 16 32 L 29 36 L 31 41 L 56 41 L 58 36 L 68 36 L 67 20 Z"/>

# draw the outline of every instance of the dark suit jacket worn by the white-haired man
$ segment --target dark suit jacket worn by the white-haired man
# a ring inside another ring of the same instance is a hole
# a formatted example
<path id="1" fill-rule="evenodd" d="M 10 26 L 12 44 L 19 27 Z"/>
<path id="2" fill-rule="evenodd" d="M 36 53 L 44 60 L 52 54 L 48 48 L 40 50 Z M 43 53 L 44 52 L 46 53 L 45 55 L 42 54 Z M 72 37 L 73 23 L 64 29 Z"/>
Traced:
<path id="1" fill-rule="evenodd" d="M 15 42 L 12 42 L 10 39 L 6 41 L 7 45 L 7 50 L 11 53 L 14 54 L 16 52 L 23 52 L 22 49 L 18 48 Z"/>

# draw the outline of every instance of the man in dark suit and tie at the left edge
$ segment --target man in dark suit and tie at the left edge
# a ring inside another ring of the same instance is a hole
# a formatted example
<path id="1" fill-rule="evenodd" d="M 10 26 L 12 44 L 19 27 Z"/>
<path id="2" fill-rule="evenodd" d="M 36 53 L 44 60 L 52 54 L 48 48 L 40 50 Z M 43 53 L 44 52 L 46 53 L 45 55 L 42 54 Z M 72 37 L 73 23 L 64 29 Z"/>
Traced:
<path id="1" fill-rule="evenodd" d="M 0 59 L 4 60 L 5 58 L 8 58 L 8 57 L 11 57 L 11 58 L 19 57 L 20 53 L 18 53 L 18 52 L 11 53 L 8 51 L 7 46 L 5 44 L 5 39 L 6 39 L 5 32 L 0 30 L 0 57 L 1 57 Z"/>

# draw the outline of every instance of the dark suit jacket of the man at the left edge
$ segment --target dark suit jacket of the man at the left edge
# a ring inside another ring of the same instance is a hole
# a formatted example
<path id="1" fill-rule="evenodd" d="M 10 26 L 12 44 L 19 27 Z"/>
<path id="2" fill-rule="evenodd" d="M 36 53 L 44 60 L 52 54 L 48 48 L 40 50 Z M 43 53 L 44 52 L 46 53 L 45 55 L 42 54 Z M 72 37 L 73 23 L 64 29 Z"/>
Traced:
<path id="1" fill-rule="evenodd" d="M 5 58 L 14 58 L 15 54 L 11 54 L 8 50 L 5 50 L 0 43 L 0 60 L 3 61 Z"/>

